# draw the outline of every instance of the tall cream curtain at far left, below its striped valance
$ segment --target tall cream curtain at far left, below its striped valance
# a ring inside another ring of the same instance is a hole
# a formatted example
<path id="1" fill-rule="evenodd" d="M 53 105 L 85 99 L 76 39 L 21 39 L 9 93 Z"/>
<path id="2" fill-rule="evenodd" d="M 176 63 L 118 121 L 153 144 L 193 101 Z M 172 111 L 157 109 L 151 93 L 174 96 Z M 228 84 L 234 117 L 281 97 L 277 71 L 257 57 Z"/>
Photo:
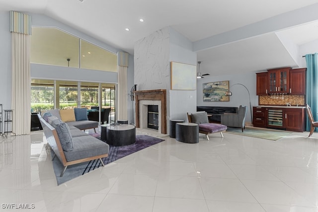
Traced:
<path id="1" fill-rule="evenodd" d="M 12 132 L 30 134 L 30 35 L 12 32 Z"/>

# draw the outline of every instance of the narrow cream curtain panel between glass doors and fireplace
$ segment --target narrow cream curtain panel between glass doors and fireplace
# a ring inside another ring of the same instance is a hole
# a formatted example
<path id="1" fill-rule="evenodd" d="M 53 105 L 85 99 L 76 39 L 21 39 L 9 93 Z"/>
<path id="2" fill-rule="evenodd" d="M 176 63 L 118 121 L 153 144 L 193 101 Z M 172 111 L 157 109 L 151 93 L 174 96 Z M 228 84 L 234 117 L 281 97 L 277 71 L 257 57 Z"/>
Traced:
<path id="1" fill-rule="evenodd" d="M 127 120 L 127 67 L 118 66 L 117 120 Z"/>

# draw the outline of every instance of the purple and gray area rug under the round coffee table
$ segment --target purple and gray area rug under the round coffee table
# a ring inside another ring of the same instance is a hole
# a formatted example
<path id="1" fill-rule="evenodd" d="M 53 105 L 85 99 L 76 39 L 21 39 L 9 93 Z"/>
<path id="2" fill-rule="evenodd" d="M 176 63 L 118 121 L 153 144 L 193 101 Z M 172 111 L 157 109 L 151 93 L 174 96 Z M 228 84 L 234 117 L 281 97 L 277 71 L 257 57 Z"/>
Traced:
<path id="1" fill-rule="evenodd" d="M 91 135 L 97 139 L 100 139 L 100 134 L 98 134 L 98 133 L 89 134 L 89 135 Z M 139 151 L 139 150 L 142 150 L 142 149 L 147 148 L 149 146 L 152 146 L 152 145 L 159 143 L 161 141 L 164 141 L 164 140 L 158 139 L 158 138 L 155 138 L 152 136 L 138 135 L 138 136 L 136 136 L 136 142 L 134 144 L 126 145 L 126 146 L 109 145 L 108 157 L 104 157 L 104 158 L 102 158 L 102 160 L 103 160 L 104 164 L 106 165 L 108 163 L 111 163 L 115 160 L 118 160 L 122 157 L 125 157 L 129 154 L 132 154 L 136 151 Z M 54 169 L 54 172 L 56 175 L 58 185 L 65 183 L 69 180 L 72 180 L 76 177 L 79 177 L 80 175 L 88 173 L 89 171 L 92 171 L 92 170 L 102 166 L 99 160 L 91 160 L 88 162 L 70 165 L 70 166 L 68 166 L 63 177 L 60 177 L 60 174 L 64 169 L 62 163 L 57 158 L 52 160 L 52 162 L 53 162 L 53 169 Z"/>

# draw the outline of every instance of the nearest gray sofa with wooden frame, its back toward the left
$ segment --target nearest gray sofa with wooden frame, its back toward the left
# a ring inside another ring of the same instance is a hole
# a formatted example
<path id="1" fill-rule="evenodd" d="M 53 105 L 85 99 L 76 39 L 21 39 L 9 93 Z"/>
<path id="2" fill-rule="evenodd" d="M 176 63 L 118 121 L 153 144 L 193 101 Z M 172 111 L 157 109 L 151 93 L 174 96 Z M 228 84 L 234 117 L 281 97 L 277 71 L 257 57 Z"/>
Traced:
<path id="1" fill-rule="evenodd" d="M 58 157 L 64 166 L 61 177 L 69 165 L 107 157 L 109 145 L 100 141 L 78 128 L 68 125 L 55 116 L 50 116 L 46 122 L 38 114 L 46 140 L 54 151 L 54 157 Z"/>

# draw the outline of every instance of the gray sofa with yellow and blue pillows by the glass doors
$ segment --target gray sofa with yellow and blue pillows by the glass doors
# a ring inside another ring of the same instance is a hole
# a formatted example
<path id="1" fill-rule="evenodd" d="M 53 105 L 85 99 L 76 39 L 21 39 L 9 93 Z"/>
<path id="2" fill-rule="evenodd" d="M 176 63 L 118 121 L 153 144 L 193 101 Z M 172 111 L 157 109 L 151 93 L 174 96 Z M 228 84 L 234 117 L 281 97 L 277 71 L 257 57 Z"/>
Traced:
<path id="1" fill-rule="evenodd" d="M 96 128 L 98 127 L 98 122 L 88 120 L 86 108 L 75 108 L 66 110 L 54 109 L 42 112 L 41 115 L 45 121 L 48 121 L 47 117 L 55 116 L 67 123 L 69 126 L 74 126 L 79 130 L 94 129 L 94 131 L 96 132 Z"/>

